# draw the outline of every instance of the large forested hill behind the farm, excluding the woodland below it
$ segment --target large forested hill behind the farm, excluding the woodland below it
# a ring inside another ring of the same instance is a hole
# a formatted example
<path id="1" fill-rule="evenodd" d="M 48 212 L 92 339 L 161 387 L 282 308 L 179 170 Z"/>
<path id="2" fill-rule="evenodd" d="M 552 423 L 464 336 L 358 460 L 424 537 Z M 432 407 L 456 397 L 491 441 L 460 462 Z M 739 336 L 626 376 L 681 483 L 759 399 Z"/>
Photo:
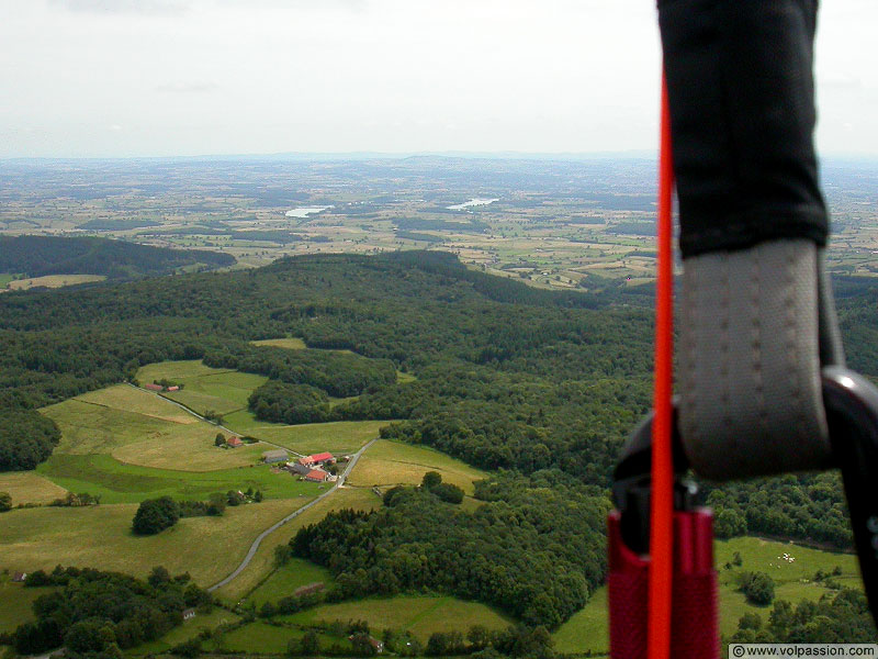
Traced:
<path id="1" fill-rule="evenodd" d="M 876 291 L 871 280 L 845 282 L 838 300 L 851 365 L 870 376 L 878 375 Z M 36 407 L 134 378 L 146 364 L 204 359 L 270 377 L 250 401 L 267 421 L 399 420 L 385 436 L 487 470 L 555 469 L 603 488 L 649 407 L 652 313 L 630 303 L 644 297 L 540 291 L 435 252 L 312 255 L 255 270 L 0 297 L 0 470 L 50 455 L 54 426 Z M 249 343 L 279 336 L 369 359 Z M 397 384 L 394 369 L 417 380 Z M 326 405 L 339 395 L 357 398 Z M 718 528 L 844 546 L 837 479 L 790 478 L 759 504 L 744 503 L 758 483 L 714 495 L 728 509 Z"/>

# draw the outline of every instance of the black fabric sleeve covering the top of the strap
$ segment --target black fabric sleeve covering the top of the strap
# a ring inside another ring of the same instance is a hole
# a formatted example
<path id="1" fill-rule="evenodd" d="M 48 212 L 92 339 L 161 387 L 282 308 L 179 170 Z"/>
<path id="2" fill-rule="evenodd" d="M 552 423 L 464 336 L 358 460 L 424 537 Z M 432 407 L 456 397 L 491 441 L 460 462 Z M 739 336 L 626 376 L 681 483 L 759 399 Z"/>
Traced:
<path id="1" fill-rule="evenodd" d="M 658 2 L 684 258 L 825 245 L 813 147 L 814 0 Z"/>

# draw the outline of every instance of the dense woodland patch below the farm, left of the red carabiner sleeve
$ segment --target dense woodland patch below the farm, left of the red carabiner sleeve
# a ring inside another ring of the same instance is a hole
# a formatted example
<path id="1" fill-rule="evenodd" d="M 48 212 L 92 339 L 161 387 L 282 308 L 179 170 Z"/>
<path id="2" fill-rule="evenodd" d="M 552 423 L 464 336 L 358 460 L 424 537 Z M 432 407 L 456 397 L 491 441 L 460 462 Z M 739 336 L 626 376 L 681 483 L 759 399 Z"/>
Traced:
<path id="1" fill-rule="evenodd" d="M 376 512 L 340 511 L 302 528 L 293 554 L 330 568 L 347 596 L 438 590 L 550 628 L 603 582 L 609 504 L 562 472 L 483 483 L 472 513 L 426 487 L 385 498 Z"/>

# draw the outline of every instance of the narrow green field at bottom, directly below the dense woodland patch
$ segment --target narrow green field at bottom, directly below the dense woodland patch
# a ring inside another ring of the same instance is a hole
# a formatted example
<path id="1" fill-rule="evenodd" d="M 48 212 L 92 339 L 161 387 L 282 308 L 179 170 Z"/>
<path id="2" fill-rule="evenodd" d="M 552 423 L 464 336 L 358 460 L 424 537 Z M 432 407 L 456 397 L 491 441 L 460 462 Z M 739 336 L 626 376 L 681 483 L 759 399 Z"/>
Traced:
<path id="1" fill-rule="evenodd" d="M 503 629 L 514 624 L 508 616 L 479 602 L 427 595 L 368 597 L 339 604 L 325 604 L 283 616 L 282 619 L 300 625 L 363 619 L 369 623 L 375 637 L 380 637 L 383 629 L 406 629 L 424 641 L 436 632 L 458 630 L 465 635 L 473 625 Z"/>

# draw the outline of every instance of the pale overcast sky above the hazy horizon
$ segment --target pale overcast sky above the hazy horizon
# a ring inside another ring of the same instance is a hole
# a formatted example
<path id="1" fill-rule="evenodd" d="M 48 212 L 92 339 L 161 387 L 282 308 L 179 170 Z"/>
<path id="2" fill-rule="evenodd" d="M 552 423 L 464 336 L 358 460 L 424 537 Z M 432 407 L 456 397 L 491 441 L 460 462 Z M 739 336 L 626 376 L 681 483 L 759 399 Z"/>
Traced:
<path id="1" fill-rule="evenodd" d="M 828 0 L 818 144 L 878 155 L 878 3 Z M 653 0 L 0 0 L 0 157 L 623 152 Z"/>

